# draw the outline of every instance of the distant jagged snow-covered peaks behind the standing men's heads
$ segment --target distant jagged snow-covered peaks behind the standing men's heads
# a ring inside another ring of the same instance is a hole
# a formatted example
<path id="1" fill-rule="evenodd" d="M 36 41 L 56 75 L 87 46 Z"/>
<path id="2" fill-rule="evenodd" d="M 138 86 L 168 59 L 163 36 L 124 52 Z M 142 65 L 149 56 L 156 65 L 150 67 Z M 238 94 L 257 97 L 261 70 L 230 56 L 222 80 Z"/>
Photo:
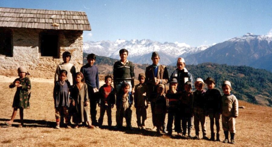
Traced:
<path id="1" fill-rule="evenodd" d="M 212 45 L 191 47 L 186 43 L 179 42 L 160 43 L 150 39 L 132 39 L 130 41 L 118 39 L 116 41 L 84 42 L 83 52 L 120 59 L 119 50 L 121 48 L 126 48 L 129 52 L 128 60 L 139 64 L 151 64 L 151 54 L 156 51 L 160 54 L 160 63 L 168 65 L 176 62 L 178 57 L 184 58 L 187 55 L 201 52 L 210 46 Z"/>

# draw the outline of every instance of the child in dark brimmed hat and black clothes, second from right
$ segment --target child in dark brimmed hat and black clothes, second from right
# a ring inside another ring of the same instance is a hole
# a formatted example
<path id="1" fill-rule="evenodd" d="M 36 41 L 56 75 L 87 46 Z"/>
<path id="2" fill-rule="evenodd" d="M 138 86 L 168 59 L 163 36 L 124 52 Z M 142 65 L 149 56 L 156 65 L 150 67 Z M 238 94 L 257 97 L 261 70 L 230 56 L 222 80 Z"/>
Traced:
<path id="1" fill-rule="evenodd" d="M 220 119 L 220 110 L 221 110 L 221 94 L 219 90 L 215 89 L 215 80 L 212 77 L 208 77 L 204 82 L 207 84 L 208 90 L 205 93 L 205 97 L 207 100 L 207 111 L 210 118 L 210 128 L 211 128 L 211 138 L 210 140 L 215 141 L 215 133 L 214 133 L 214 120 L 216 126 L 216 141 L 220 141 L 219 139 L 219 119 Z"/>

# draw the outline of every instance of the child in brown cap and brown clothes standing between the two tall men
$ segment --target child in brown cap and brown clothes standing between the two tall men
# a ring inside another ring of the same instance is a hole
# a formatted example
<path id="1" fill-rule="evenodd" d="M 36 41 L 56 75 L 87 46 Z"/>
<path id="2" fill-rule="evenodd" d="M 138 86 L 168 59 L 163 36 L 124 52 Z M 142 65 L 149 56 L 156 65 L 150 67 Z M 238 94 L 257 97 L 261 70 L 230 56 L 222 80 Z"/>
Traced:
<path id="1" fill-rule="evenodd" d="M 140 73 L 138 76 L 139 84 L 135 86 L 135 93 L 134 93 L 134 107 L 136 108 L 136 117 L 137 117 L 137 125 L 138 128 L 145 129 L 145 120 L 147 118 L 147 111 L 148 108 L 147 104 L 147 94 L 148 94 L 148 87 L 145 80 L 145 74 Z M 141 121 L 142 117 L 142 121 Z"/>

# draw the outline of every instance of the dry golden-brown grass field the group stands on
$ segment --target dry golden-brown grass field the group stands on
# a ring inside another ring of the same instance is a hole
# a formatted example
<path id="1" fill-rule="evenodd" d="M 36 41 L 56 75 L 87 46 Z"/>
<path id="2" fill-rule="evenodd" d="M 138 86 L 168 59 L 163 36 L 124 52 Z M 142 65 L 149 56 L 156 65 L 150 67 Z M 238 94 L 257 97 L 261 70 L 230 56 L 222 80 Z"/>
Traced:
<path id="1" fill-rule="evenodd" d="M 55 116 L 53 105 L 53 82 L 50 79 L 32 80 L 30 109 L 24 110 L 25 127 L 18 128 L 19 115 L 17 114 L 12 127 L 6 127 L 4 121 L 9 120 L 12 114 L 12 101 L 16 89 L 8 88 L 15 77 L 0 77 L 0 146 L 272 146 L 272 108 L 249 104 L 239 101 L 239 109 L 235 135 L 235 145 L 207 140 L 184 139 L 173 133 L 172 137 L 158 136 L 155 131 L 141 131 L 136 127 L 136 114 L 133 108 L 132 127 L 135 130 L 114 130 L 106 126 L 99 129 L 54 129 Z M 113 126 L 115 123 L 115 108 L 112 111 Z M 99 109 L 98 115 L 99 117 Z M 124 119 L 125 120 L 125 119 Z M 151 109 L 148 109 L 146 127 L 151 128 Z M 104 125 L 107 125 L 105 115 Z M 207 133 L 210 137 L 209 119 L 207 117 Z M 124 121 L 125 126 L 125 121 Z M 220 124 L 221 126 L 221 124 Z M 192 131 L 194 134 L 194 130 Z M 201 133 L 200 133 L 201 134 Z M 224 139 L 220 131 L 220 139 Z M 202 137 L 202 136 L 200 136 Z"/>

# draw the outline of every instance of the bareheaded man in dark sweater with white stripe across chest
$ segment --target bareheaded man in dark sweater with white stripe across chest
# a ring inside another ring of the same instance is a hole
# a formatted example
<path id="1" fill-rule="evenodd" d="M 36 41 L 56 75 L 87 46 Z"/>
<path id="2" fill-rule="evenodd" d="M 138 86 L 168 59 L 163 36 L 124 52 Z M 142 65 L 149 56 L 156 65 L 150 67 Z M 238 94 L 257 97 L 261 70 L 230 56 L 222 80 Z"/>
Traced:
<path id="1" fill-rule="evenodd" d="M 116 90 L 117 94 L 121 90 L 121 86 L 124 83 L 128 83 L 130 85 L 129 92 L 134 94 L 134 65 L 131 61 L 127 60 L 128 50 L 122 48 L 119 51 L 119 55 L 121 60 L 117 61 L 113 65 L 113 86 Z M 116 124 L 119 121 L 118 108 L 116 111 Z M 116 126 L 117 128 L 119 126 Z"/>

